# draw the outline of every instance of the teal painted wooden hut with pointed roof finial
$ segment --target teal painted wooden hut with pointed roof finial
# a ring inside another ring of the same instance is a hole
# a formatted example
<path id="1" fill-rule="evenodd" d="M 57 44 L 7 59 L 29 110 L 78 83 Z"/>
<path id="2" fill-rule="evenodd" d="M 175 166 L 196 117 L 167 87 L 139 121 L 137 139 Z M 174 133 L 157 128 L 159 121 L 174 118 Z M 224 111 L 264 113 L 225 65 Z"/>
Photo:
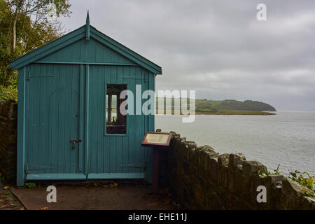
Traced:
<path id="1" fill-rule="evenodd" d="M 119 95 L 136 92 L 136 85 L 155 90 L 160 66 L 90 26 L 87 13 L 83 27 L 10 67 L 19 71 L 18 186 L 55 180 L 151 183 L 152 150 L 141 147 L 141 139 L 155 130 L 154 115 L 123 116 Z"/>

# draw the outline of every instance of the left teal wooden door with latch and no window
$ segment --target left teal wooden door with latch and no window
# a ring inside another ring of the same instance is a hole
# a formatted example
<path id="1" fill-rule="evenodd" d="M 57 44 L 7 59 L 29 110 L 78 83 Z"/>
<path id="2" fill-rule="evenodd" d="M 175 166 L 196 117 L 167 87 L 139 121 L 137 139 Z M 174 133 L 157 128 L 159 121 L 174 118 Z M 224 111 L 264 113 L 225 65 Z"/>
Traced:
<path id="1" fill-rule="evenodd" d="M 80 92 L 78 66 L 31 66 L 27 179 L 85 179 Z"/>

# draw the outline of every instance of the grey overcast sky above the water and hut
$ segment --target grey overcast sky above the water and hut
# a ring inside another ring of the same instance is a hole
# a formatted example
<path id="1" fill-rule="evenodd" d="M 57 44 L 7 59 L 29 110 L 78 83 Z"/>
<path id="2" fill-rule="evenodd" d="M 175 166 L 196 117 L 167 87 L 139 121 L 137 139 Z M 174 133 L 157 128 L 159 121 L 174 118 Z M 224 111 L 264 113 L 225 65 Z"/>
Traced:
<path id="1" fill-rule="evenodd" d="M 76 0 L 66 29 L 91 25 L 162 66 L 157 90 L 315 111 L 314 0 Z M 258 3 L 267 21 L 258 21 Z"/>

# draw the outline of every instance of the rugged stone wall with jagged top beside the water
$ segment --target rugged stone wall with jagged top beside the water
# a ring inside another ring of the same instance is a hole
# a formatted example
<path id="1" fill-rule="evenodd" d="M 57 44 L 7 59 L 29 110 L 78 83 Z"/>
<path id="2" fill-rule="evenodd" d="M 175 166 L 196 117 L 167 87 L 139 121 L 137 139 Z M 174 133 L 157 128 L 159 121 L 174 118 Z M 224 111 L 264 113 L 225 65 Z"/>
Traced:
<path id="1" fill-rule="evenodd" d="M 315 198 L 302 194 L 307 188 L 282 175 L 260 177 L 264 165 L 241 153 L 219 155 L 173 132 L 162 154 L 160 185 L 185 209 L 315 209 Z M 258 186 L 267 202 L 257 202 Z"/>

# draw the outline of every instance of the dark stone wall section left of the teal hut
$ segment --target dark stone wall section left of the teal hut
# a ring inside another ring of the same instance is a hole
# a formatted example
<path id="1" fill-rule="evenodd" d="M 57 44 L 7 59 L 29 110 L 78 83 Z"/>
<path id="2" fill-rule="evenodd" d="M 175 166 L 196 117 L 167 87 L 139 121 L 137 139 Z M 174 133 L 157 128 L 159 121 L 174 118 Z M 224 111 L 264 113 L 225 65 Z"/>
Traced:
<path id="1" fill-rule="evenodd" d="M 0 173 L 7 183 L 16 183 L 18 104 L 0 102 Z"/>

